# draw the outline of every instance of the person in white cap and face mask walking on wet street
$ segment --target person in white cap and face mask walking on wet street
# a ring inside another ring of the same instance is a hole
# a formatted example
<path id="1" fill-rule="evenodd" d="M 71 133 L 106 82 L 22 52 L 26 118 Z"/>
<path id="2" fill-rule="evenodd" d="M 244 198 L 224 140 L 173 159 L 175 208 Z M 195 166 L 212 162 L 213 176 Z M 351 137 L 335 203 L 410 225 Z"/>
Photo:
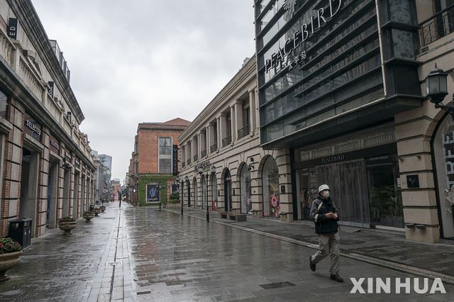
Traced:
<path id="1" fill-rule="evenodd" d="M 315 255 L 309 257 L 309 267 L 312 272 L 316 270 L 316 264 L 323 258 L 331 257 L 329 268 L 330 278 L 334 281 L 343 282 L 339 276 L 339 215 L 334 202 L 329 197 L 329 186 L 322 184 L 319 186 L 319 196 L 312 201 L 311 220 L 315 223 L 315 233 L 319 236 L 319 250 Z"/>

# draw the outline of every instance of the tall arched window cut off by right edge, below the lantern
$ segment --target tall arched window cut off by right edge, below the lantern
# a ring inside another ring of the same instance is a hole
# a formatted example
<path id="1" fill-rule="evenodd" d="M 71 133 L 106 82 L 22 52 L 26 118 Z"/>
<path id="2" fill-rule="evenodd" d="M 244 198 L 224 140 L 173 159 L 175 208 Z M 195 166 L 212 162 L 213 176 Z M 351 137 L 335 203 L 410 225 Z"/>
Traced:
<path id="1" fill-rule="evenodd" d="M 454 123 L 448 115 L 433 138 L 442 235 L 454 237 Z"/>

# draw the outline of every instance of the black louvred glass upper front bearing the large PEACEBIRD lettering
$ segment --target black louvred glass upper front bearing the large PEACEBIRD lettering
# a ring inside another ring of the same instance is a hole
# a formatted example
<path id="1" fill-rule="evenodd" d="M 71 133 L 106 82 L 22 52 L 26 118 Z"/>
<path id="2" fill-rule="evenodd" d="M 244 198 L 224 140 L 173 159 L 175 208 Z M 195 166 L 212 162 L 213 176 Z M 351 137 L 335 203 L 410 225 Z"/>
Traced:
<path id="1" fill-rule="evenodd" d="M 264 147 L 282 145 L 279 139 L 294 133 L 298 133 L 294 141 L 305 143 L 305 128 L 311 127 L 309 136 L 316 136 L 314 129 L 323 131 L 318 124 L 327 119 L 370 107 L 387 96 L 421 94 L 414 64 L 414 0 L 378 1 L 380 28 L 374 0 L 297 0 L 294 13 L 284 9 L 283 2 L 255 4 Z M 392 108 L 405 110 L 405 104 Z M 388 121 L 393 113 L 387 114 Z M 343 120 L 336 122 L 337 128 L 343 128 Z M 352 128 L 349 123 L 345 131 Z M 366 126 L 367 119 L 354 128 L 362 123 Z M 374 123 L 380 123 L 380 118 Z"/>

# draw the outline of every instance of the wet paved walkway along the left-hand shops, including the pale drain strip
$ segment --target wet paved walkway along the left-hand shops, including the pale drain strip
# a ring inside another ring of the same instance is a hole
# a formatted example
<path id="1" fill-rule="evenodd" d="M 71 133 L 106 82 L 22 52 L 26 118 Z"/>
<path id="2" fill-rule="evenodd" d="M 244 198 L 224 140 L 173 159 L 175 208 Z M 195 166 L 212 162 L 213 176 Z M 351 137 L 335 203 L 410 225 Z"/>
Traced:
<path id="1" fill-rule="evenodd" d="M 33 238 L 21 261 L 0 284 L 0 301 L 131 300 L 123 211 L 132 206 L 104 203 L 106 212 L 86 223 L 77 220 L 72 235 L 58 228 Z"/>

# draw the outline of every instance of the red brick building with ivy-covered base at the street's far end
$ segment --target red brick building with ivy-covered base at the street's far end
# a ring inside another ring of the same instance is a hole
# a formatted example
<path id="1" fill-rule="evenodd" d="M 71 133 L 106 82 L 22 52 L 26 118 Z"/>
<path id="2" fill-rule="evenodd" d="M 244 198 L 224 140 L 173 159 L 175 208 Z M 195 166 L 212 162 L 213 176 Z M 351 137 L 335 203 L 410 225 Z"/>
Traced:
<path id="1" fill-rule="evenodd" d="M 140 123 L 128 169 L 131 203 L 145 206 L 166 203 L 178 173 L 178 135 L 189 121 Z"/>

